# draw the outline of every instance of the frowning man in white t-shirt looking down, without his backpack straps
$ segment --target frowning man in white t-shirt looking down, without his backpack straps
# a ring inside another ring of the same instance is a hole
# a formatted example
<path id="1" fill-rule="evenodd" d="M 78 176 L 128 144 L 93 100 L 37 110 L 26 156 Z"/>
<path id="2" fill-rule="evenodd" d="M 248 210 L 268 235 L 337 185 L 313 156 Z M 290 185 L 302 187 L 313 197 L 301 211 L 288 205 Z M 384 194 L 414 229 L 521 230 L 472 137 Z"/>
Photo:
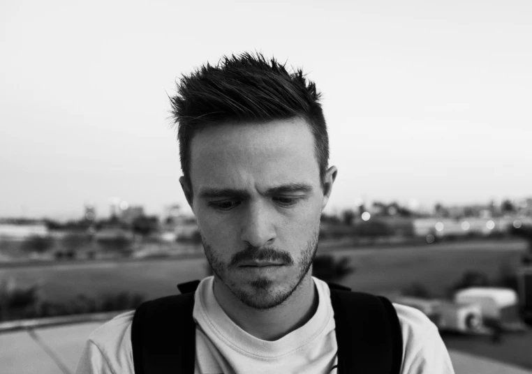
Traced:
<path id="1" fill-rule="evenodd" d="M 179 181 L 214 271 L 194 294 L 195 373 L 337 372 L 330 287 L 311 276 L 337 177 L 319 98 L 301 70 L 261 54 L 207 63 L 171 98 Z M 401 373 L 453 373 L 434 324 L 394 308 Z M 78 374 L 134 372 L 133 314 L 91 334 Z"/>

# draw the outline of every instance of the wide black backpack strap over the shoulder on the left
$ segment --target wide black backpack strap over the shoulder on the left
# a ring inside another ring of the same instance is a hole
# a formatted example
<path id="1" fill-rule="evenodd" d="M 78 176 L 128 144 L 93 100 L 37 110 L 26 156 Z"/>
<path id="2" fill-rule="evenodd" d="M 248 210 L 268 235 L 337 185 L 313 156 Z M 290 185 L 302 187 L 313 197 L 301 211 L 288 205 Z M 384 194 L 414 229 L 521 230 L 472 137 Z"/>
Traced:
<path id="1" fill-rule="evenodd" d="M 184 283 L 187 293 L 146 301 L 137 308 L 131 324 L 135 374 L 194 373 L 192 313 L 198 284 Z"/>

